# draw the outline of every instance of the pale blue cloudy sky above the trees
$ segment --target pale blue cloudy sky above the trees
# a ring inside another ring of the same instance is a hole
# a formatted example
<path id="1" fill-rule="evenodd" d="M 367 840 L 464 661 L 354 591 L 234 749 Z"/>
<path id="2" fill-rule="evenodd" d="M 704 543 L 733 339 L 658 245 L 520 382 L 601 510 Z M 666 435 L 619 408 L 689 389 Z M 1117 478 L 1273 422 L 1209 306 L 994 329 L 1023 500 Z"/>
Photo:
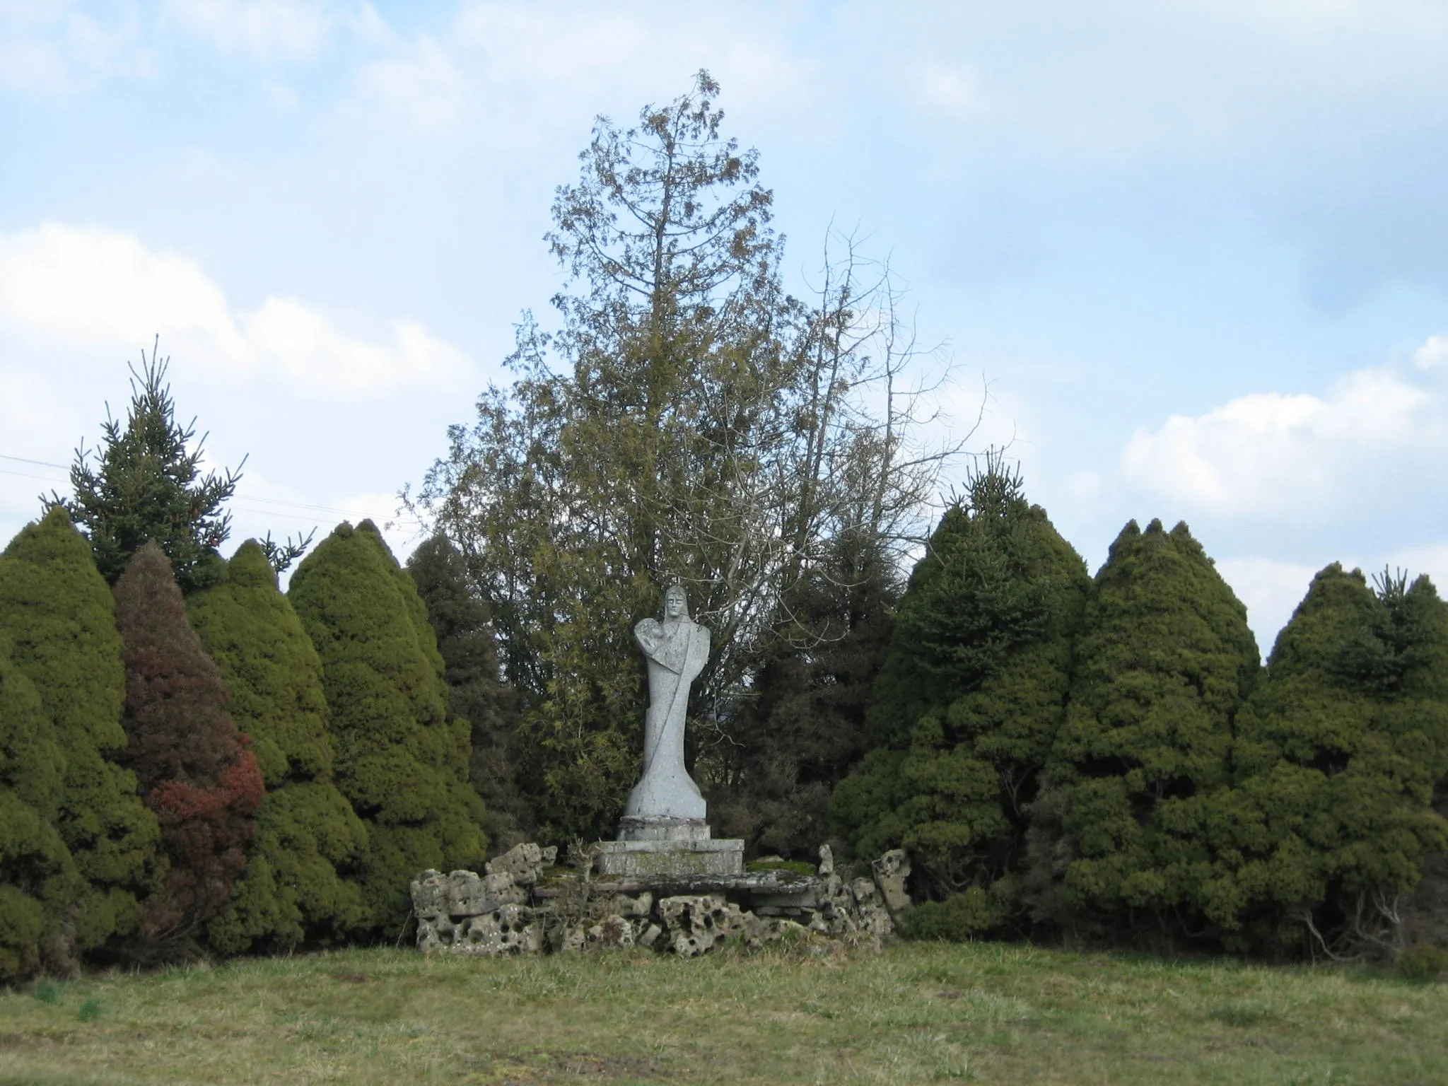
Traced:
<path id="1" fill-rule="evenodd" d="M 595 116 L 699 68 L 789 284 L 888 258 L 930 436 L 1009 443 L 1093 571 L 1184 520 L 1264 653 L 1329 562 L 1448 584 L 1445 0 L 0 0 L 0 540 L 159 336 L 227 550 L 405 555 Z"/>

